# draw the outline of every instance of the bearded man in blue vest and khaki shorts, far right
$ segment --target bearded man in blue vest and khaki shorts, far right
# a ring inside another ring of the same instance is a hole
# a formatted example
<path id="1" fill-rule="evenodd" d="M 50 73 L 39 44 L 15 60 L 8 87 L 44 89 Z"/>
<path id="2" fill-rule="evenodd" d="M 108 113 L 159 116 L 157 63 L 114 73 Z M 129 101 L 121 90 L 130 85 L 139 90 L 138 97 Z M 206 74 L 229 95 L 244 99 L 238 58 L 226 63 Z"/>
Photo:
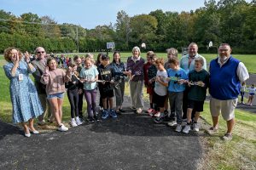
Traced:
<path id="1" fill-rule="evenodd" d="M 232 139 L 232 129 L 235 125 L 235 108 L 240 93 L 241 82 L 249 78 L 247 68 L 231 55 L 228 43 L 222 43 L 218 48 L 218 58 L 210 63 L 210 111 L 213 126 L 207 133 L 218 132 L 218 116 L 221 113 L 227 122 L 227 133 L 224 140 Z"/>

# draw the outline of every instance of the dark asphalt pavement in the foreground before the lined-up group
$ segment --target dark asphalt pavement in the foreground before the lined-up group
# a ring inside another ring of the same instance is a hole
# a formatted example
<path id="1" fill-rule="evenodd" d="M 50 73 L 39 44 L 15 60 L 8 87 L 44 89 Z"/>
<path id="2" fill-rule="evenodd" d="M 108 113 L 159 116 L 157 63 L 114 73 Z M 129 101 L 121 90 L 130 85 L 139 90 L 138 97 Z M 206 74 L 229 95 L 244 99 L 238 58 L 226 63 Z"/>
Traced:
<path id="1" fill-rule="evenodd" d="M 18 127 L 0 122 L 0 169 L 196 169 L 204 134 L 156 125 L 128 109 L 130 103 L 125 98 L 126 112 L 117 119 L 29 139 Z"/>

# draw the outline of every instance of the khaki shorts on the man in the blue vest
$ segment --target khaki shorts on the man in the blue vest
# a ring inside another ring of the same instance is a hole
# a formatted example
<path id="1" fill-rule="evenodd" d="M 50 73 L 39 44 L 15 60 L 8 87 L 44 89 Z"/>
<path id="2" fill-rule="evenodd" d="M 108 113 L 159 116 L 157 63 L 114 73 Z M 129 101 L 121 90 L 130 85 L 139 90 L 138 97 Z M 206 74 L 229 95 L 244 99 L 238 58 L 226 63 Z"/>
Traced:
<path id="1" fill-rule="evenodd" d="M 220 99 L 210 99 L 210 111 L 212 116 L 223 116 L 225 121 L 230 121 L 235 118 L 235 109 L 237 105 L 236 99 L 220 100 Z"/>

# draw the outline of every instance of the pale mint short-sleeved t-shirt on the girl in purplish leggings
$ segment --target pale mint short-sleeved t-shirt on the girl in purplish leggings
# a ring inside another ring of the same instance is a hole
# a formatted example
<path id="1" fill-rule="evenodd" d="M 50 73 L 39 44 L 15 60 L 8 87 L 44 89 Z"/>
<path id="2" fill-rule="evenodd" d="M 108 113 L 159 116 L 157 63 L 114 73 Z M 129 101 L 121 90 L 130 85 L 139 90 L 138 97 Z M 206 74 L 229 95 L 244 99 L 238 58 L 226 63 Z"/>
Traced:
<path id="1" fill-rule="evenodd" d="M 93 80 L 99 74 L 95 66 L 91 66 L 89 69 L 83 68 L 80 71 L 80 77 L 85 80 Z M 96 82 L 84 82 L 84 90 L 93 90 L 97 87 Z"/>

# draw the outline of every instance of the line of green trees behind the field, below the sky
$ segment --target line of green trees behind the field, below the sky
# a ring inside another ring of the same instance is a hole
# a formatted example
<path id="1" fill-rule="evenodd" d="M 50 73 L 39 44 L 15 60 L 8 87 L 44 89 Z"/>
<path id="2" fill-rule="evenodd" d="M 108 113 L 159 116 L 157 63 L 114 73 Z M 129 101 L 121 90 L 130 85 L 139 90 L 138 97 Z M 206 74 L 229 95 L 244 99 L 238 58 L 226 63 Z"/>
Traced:
<path id="1" fill-rule="evenodd" d="M 102 51 L 106 42 L 115 42 L 122 51 L 144 42 L 147 50 L 159 52 L 170 47 L 180 51 L 196 42 L 201 53 L 216 53 L 218 44 L 228 42 L 234 53 L 256 54 L 256 0 L 208 0 L 204 7 L 181 13 L 158 9 L 129 16 L 122 10 L 116 23 L 94 29 L 32 13 L 18 17 L 2 9 L 0 40 L 0 53 L 10 46 L 31 52 L 37 46 L 54 53 Z"/>

